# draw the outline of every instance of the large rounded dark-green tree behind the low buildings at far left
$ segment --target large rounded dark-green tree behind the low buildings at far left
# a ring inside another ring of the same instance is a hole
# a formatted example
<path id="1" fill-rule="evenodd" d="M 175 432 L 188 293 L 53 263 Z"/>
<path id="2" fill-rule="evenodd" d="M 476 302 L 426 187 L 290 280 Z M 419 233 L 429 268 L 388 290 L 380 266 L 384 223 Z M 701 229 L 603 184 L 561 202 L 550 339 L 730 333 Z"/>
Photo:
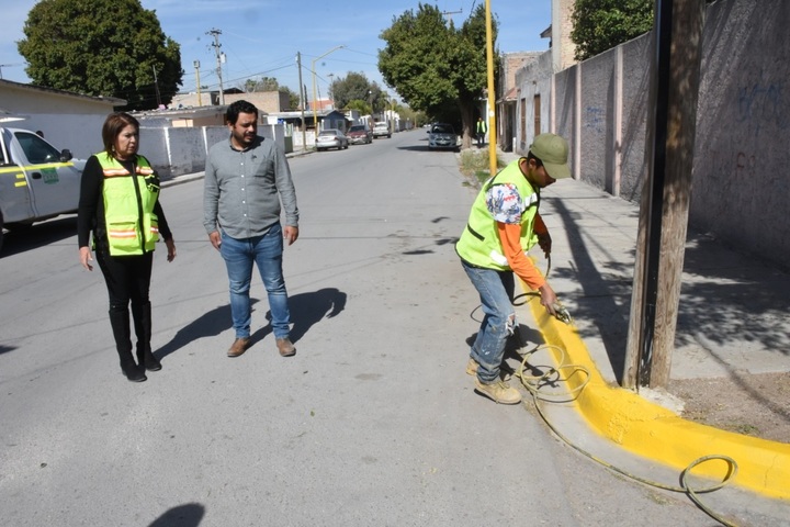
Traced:
<path id="1" fill-rule="evenodd" d="M 34 85 L 146 110 L 169 104 L 183 78 L 180 46 L 139 0 L 41 0 L 23 32 L 16 47 Z"/>

